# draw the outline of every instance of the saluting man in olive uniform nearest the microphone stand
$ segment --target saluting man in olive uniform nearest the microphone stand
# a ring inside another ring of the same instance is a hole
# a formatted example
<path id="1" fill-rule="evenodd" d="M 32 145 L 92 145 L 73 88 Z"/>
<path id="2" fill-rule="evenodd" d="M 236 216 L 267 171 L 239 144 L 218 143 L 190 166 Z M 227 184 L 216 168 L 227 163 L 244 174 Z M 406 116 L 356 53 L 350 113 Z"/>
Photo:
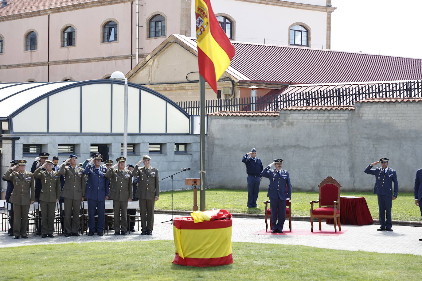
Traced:
<path id="1" fill-rule="evenodd" d="M 139 165 L 143 162 L 143 167 Z M 135 197 L 139 199 L 139 210 L 141 212 L 141 235 L 151 235 L 154 227 L 154 203 L 160 196 L 160 184 L 158 183 L 158 170 L 149 164 L 151 157 L 143 155 L 142 160 L 136 164 L 131 176 L 139 176 L 138 190 Z"/>

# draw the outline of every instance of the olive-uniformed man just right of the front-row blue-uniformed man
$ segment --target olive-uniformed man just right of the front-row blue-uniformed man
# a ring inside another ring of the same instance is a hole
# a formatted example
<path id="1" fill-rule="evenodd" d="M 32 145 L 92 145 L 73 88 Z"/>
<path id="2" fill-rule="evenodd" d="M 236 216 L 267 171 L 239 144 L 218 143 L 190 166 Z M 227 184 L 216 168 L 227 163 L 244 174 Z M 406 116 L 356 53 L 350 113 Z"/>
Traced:
<path id="1" fill-rule="evenodd" d="M 104 176 L 110 178 L 110 198 L 113 200 L 114 235 L 126 235 L 127 202 L 132 201 L 133 189 L 130 171 L 124 169 L 126 158 L 119 157 L 117 163 L 108 169 Z M 114 169 L 118 166 L 118 169 Z M 122 216 L 122 217 L 120 217 Z"/>

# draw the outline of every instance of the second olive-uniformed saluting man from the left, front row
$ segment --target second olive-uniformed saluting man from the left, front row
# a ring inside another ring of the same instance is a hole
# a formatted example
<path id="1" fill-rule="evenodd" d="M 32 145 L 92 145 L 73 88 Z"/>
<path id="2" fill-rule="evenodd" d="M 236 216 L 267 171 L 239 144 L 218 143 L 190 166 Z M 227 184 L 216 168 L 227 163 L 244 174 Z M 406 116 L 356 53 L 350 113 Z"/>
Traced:
<path id="1" fill-rule="evenodd" d="M 41 180 L 40 205 L 43 214 L 41 216 L 42 238 L 54 235 L 54 212 L 56 203 L 60 200 L 60 175 L 53 170 L 54 163 L 50 160 L 41 165 L 34 172 L 34 177 Z M 46 168 L 46 170 L 43 170 Z"/>

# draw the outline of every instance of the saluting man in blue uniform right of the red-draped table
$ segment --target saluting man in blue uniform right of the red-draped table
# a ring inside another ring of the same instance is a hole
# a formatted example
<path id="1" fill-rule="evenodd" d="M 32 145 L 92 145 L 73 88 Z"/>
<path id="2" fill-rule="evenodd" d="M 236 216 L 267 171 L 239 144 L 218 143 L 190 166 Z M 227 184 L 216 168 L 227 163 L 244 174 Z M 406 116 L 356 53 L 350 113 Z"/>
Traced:
<path id="1" fill-rule="evenodd" d="M 381 225 L 381 227 L 377 230 L 393 231 L 391 228 L 391 207 L 392 201 L 397 198 L 398 182 L 397 173 L 388 166 L 388 160 L 388 158 L 381 158 L 379 161 L 369 164 L 369 166 L 365 169 L 365 173 L 375 175 L 373 193 L 378 197 L 379 223 Z M 373 165 L 380 162 L 382 167 L 376 167 L 376 169 L 371 170 Z M 394 193 L 392 191 L 393 182 Z"/>

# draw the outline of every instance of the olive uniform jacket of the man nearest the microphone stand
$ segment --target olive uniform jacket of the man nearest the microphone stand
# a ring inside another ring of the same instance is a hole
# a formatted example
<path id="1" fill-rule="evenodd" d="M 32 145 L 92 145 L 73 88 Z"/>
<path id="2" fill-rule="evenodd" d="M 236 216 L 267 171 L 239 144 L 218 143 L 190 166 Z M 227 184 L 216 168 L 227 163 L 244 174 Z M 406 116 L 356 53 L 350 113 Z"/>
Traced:
<path id="1" fill-rule="evenodd" d="M 131 176 L 139 176 L 135 197 L 147 200 L 154 200 L 155 197 L 160 197 L 160 184 L 158 183 L 158 170 L 156 168 L 151 167 L 151 173 L 147 175 L 145 167 L 139 168 L 136 165 Z"/>

